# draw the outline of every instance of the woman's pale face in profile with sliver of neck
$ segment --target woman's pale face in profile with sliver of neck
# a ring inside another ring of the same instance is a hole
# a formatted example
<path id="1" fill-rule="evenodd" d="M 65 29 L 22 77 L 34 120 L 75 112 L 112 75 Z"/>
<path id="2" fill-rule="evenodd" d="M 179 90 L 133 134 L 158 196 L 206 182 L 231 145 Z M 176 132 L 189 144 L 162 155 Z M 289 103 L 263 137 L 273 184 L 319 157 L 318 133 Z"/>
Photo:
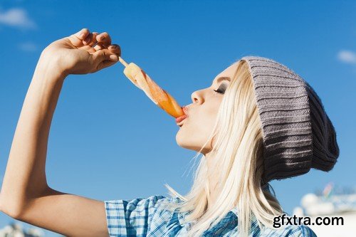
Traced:
<path id="1" fill-rule="evenodd" d="M 230 65 L 229 68 L 226 68 L 216 75 L 216 78 L 214 78 L 209 88 L 196 90 L 192 93 L 192 103 L 186 106 L 188 117 L 183 120 L 183 125 L 179 128 L 176 135 L 176 141 L 180 147 L 199 152 L 199 149 L 204 145 L 214 128 L 216 115 L 224 97 L 224 90 L 229 86 L 231 78 L 233 78 L 234 73 L 236 73 L 236 69 L 237 63 Z M 214 91 L 219 88 L 223 93 Z M 214 186 L 216 186 L 217 183 L 216 178 L 214 179 L 214 177 L 216 177 L 214 175 L 215 169 L 212 167 L 211 160 L 209 159 L 212 146 L 214 146 L 214 137 L 201 151 L 206 157 L 210 190 L 214 190 Z M 214 193 L 210 195 L 211 200 L 213 200 L 212 202 L 214 202 Z"/>

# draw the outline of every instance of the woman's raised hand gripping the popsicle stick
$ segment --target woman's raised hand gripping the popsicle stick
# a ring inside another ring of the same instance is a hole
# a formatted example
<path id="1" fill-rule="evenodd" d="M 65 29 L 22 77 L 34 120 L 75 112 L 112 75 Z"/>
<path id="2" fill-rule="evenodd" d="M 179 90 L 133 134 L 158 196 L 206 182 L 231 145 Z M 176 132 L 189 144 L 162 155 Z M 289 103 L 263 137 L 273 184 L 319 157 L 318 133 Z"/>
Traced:
<path id="1" fill-rule="evenodd" d="M 91 44 L 97 41 L 100 45 L 93 48 Z M 108 68 L 117 63 L 120 53 L 120 46 L 111 44 L 108 33 L 95 35 L 83 28 L 49 44 L 42 51 L 40 61 L 66 78 L 70 74 L 95 73 Z"/>

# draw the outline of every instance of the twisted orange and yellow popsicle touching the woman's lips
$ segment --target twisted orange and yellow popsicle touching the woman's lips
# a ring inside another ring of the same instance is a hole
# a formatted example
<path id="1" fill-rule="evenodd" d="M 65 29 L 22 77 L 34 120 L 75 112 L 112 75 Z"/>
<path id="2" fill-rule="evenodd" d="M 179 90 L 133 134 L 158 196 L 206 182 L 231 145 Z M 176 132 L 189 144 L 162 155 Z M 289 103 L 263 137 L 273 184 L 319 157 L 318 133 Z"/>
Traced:
<path id="1" fill-rule="evenodd" d="M 182 107 L 179 106 L 172 95 L 169 95 L 167 91 L 160 88 L 144 70 L 135 63 L 126 63 L 121 57 L 119 57 L 119 60 L 122 65 L 125 65 L 124 74 L 126 77 L 129 78 L 137 88 L 143 90 L 152 102 L 173 117 L 177 118 L 184 115 Z"/>

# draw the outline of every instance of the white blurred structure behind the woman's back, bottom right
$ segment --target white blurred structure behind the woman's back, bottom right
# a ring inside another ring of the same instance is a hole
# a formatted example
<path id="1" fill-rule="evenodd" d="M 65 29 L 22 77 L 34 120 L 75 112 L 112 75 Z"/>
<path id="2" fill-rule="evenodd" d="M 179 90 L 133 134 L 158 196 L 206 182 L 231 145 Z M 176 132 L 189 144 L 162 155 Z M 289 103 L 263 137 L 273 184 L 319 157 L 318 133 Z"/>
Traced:
<path id="1" fill-rule="evenodd" d="M 310 222 L 315 223 L 318 216 L 325 218 L 342 217 L 338 225 L 308 226 L 322 237 L 355 237 L 356 236 L 356 192 L 335 191 L 333 183 L 325 186 L 323 194 L 305 194 L 300 201 L 301 206 L 293 209 L 295 216 L 309 216 Z"/>

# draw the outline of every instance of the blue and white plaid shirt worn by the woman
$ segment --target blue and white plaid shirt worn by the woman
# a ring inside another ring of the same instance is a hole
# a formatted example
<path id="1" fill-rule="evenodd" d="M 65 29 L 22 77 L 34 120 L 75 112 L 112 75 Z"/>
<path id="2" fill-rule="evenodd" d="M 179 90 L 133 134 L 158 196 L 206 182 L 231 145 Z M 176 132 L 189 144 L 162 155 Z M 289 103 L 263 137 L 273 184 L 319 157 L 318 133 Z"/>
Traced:
<path id="1" fill-rule="evenodd" d="M 270 191 L 267 186 L 267 191 Z M 183 223 L 184 214 L 162 208 L 165 201 L 181 202 L 179 198 L 162 195 L 148 198 L 105 201 L 108 231 L 111 236 L 187 236 L 191 223 Z M 286 212 L 285 212 L 286 213 Z M 231 209 L 219 223 L 206 230 L 202 236 L 237 236 L 237 212 Z M 263 237 L 316 237 L 308 226 L 281 226 L 278 230 L 258 227 L 256 218 L 251 223 L 249 236 Z"/>

